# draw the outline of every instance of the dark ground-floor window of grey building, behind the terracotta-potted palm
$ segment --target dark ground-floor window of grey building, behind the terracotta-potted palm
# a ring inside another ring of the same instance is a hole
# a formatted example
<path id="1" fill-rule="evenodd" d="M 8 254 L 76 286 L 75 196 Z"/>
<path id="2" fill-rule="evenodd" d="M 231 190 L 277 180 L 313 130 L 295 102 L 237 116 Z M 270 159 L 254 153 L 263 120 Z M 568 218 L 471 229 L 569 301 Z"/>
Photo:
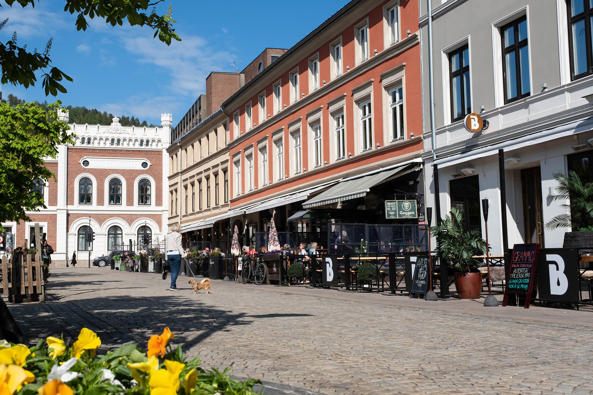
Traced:
<path id="1" fill-rule="evenodd" d="M 478 176 L 464 177 L 450 181 L 451 207 L 457 208 L 468 230 L 482 234 L 482 207 L 480 207 L 480 185 Z"/>

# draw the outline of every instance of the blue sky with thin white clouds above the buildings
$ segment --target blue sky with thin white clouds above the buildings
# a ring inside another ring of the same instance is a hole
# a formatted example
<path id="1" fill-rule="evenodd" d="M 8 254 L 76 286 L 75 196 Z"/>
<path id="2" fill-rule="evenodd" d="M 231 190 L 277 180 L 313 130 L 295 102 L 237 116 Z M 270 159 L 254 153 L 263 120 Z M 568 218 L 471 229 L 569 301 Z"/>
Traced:
<path id="1" fill-rule="evenodd" d="M 108 113 L 133 115 L 160 124 L 161 113 L 172 113 L 173 124 L 186 113 L 197 95 L 205 93 L 211 71 L 231 71 L 235 60 L 243 69 L 265 47 L 290 48 L 323 23 L 347 0 L 205 1 L 173 0 L 157 7 L 159 14 L 173 4 L 176 33 L 183 41 L 171 46 L 152 38 L 145 27 L 111 27 L 94 20 L 87 31 L 76 31 L 76 15 L 63 12 L 65 2 L 42 0 L 34 8 L 0 8 L 9 18 L 0 30 L 6 42 L 17 31 L 17 43 L 43 51 L 53 37 L 50 53 L 74 82 L 63 105 L 84 105 Z M 41 80 L 31 88 L 2 86 L 2 97 L 12 93 L 27 101 L 46 99 Z M 53 97 L 47 98 L 53 101 Z"/>

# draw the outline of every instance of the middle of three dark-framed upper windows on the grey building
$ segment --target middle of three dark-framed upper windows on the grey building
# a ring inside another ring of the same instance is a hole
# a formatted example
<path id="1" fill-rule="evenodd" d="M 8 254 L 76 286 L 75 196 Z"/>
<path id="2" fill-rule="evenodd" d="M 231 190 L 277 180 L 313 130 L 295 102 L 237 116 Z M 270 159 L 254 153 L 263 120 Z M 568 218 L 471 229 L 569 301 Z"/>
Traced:
<path id="1" fill-rule="evenodd" d="M 502 30 L 502 78 L 505 104 L 530 95 L 527 17 L 509 23 Z"/>

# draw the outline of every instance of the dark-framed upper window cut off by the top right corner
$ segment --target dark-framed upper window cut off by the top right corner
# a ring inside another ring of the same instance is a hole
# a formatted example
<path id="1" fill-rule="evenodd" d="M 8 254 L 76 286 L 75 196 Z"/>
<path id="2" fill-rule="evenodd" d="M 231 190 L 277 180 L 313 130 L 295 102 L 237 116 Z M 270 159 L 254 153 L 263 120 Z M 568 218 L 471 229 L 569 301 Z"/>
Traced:
<path id="1" fill-rule="evenodd" d="M 569 0 L 568 36 L 570 52 L 570 75 L 581 78 L 593 72 L 591 25 L 593 25 L 593 1 Z"/>

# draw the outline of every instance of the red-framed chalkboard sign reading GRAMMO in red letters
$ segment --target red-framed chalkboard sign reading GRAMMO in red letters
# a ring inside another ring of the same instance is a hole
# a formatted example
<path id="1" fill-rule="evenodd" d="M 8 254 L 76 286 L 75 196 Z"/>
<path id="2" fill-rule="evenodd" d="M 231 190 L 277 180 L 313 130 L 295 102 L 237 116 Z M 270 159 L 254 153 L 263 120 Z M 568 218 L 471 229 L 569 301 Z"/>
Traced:
<path id="1" fill-rule="evenodd" d="M 525 309 L 529 309 L 539 251 L 540 245 L 537 243 L 515 244 L 506 277 L 505 297 L 502 300 L 502 306 L 506 306 L 509 294 L 518 294 L 525 295 Z"/>

